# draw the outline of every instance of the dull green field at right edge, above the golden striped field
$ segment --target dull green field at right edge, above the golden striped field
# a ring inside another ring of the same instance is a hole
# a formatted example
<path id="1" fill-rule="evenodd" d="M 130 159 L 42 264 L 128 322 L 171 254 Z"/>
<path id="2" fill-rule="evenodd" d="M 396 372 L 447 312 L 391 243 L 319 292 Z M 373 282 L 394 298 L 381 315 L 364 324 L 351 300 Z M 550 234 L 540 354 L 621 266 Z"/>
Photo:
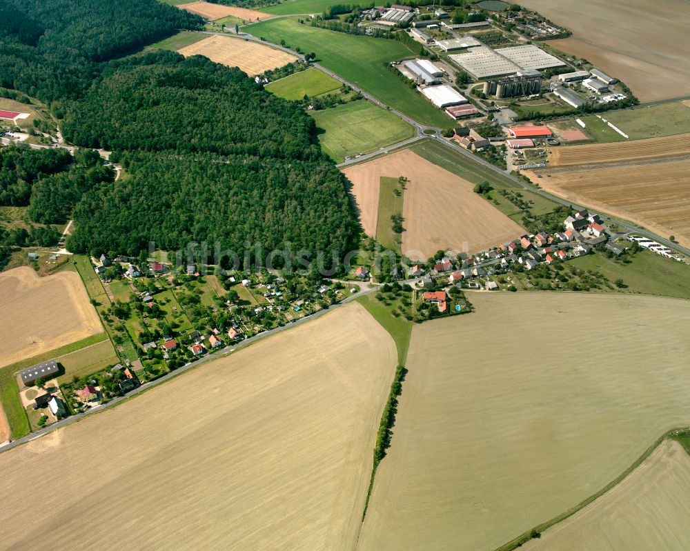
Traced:
<path id="1" fill-rule="evenodd" d="M 690 107 L 682 101 L 620 109 L 602 114 L 602 117 L 633 140 L 690 132 Z"/>

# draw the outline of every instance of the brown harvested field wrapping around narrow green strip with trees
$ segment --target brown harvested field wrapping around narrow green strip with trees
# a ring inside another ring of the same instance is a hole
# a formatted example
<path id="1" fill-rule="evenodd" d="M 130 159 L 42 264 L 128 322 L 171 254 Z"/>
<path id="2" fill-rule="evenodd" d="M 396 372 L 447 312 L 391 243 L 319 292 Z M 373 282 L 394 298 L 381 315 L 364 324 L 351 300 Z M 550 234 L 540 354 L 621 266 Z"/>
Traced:
<path id="1" fill-rule="evenodd" d="M 437 250 L 477 252 L 524 230 L 473 192 L 473 184 L 410 150 L 368 161 L 344 173 L 353 182 L 360 220 L 369 235 L 377 225 L 382 176 L 408 178 L 404 191 L 402 252 L 426 260 Z"/>

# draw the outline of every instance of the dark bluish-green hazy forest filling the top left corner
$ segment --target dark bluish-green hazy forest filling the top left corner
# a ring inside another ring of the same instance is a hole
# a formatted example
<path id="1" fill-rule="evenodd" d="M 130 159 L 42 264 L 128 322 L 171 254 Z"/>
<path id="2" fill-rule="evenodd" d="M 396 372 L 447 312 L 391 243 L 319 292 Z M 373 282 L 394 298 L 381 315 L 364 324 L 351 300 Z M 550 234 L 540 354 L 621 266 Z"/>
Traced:
<path id="1" fill-rule="evenodd" d="M 0 86 L 48 102 L 79 97 L 101 62 L 202 24 L 156 0 L 3 0 Z"/>

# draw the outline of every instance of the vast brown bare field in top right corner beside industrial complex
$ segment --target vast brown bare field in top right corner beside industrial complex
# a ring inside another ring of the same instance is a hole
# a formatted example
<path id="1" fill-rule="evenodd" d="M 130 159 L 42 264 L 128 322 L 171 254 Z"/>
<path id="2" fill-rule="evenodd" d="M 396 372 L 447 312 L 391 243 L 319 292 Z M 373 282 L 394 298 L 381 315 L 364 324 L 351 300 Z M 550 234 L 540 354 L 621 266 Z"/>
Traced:
<path id="1" fill-rule="evenodd" d="M 690 94 L 690 10 L 685 0 L 524 0 L 573 36 L 549 45 L 621 79 L 641 101 Z"/>

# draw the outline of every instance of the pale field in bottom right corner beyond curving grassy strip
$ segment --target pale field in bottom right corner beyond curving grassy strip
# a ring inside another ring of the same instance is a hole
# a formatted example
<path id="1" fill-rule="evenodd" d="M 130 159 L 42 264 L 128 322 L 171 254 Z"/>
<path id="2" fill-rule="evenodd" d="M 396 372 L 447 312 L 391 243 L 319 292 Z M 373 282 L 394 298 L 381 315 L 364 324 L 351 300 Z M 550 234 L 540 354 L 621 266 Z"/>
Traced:
<path id="1" fill-rule="evenodd" d="M 665 440 L 613 490 L 546 530 L 526 551 L 687 551 L 690 456 Z"/>

